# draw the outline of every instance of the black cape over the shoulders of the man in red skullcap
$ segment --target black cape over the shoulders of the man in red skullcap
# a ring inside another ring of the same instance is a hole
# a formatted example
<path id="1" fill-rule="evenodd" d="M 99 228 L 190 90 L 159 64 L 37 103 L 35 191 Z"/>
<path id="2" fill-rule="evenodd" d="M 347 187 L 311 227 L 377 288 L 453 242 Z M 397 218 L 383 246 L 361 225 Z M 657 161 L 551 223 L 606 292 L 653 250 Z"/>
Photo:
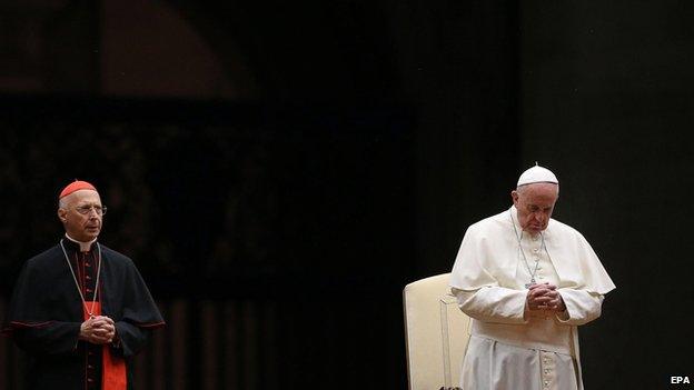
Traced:
<path id="1" fill-rule="evenodd" d="M 163 326 L 163 320 L 132 260 L 105 246 L 101 258 L 101 313 L 116 322 L 120 342 L 112 348 L 129 363 L 149 330 Z M 31 388 L 83 387 L 81 357 L 86 349 L 78 342 L 82 320 L 82 301 L 60 246 L 28 260 L 17 280 L 2 333 L 32 358 Z"/>

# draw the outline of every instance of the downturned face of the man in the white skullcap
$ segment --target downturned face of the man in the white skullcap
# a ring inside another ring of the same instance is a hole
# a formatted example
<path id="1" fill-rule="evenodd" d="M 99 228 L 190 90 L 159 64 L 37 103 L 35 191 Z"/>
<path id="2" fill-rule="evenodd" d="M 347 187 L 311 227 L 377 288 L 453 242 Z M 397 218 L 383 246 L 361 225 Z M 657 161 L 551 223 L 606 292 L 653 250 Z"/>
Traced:
<path id="1" fill-rule="evenodd" d="M 537 234 L 547 229 L 554 203 L 559 197 L 559 186 L 553 183 L 533 183 L 520 186 L 510 192 L 518 210 L 518 222 L 524 231 Z"/>

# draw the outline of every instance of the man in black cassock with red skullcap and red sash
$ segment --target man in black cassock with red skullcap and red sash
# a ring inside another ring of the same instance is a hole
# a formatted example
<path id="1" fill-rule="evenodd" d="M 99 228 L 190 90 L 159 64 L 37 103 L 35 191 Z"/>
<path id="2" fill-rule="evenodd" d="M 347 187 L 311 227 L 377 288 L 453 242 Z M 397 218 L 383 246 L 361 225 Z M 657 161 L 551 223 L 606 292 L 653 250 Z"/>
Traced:
<path id="1" fill-rule="evenodd" d="M 23 264 L 2 332 L 31 358 L 29 389 L 131 390 L 131 358 L 165 324 L 132 260 L 97 241 L 105 213 L 93 186 L 70 183 L 65 238 Z"/>

